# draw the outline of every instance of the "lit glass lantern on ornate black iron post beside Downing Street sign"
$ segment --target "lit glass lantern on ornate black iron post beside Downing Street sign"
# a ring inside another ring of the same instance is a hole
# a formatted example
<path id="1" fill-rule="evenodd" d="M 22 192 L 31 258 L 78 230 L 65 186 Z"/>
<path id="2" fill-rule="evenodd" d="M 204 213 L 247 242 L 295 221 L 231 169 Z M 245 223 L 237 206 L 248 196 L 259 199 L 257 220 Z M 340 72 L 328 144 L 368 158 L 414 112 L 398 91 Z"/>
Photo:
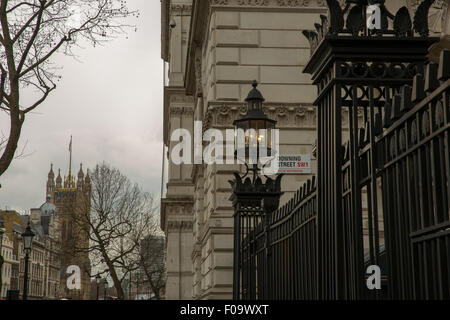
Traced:
<path id="1" fill-rule="evenodd" d="M 274 159 L 278 150 L 274 148 L 277 142 L 272 141 L 272 132 L 269 133 L 275 129 L 276 121 L 269 119 L 264 114 L 264 97 L 257 89 L 258 83 L 254 81 L 252 85 L 253 89 L 245 99 L 248 106 L 247 113 L 242 119 L 234 122 L 236 130 L 235 156 L 247 168 L 243 177 L 235 172 L 235 179 L 230 181 L 233 190 L 230 200 L 234 207 L 233 299 L 235 300 L 256 299 L 255 286 L 248 286 L 248 283 L 252 283 L 251 279 L 254 277 L 255 270 L 251 270 L 252 266 L 248 265 L 248 259 L 243 255 L 248 251 L 246 243 L 254 243 L 256 234 L 261 232 L 265 238 L 264 269 L 266 270 L 262 276 L 269 277 L 270 219 L 272 213 L 277 210 L 283 194 L 281 192 L 283 174 L 279 174 L 275 180 L 266 176 L 265 183 L 258 174 L 261 171 L 258 162 L 264 162 L 263 158 L 268 161 Z M 245 138 L 242 136 L 243 132 L 247 132 Z M 261 157 L 261 151 L 263 157 Z M 264 154 L 264 151 L 267 152 Z M 264 163 L 262 167 L 264 168 L 266 164 Z M 253 172 L 252 179 L 246 178 L 250 171 Z M 268 283 L 268 281 L 264 283 Z M 271 288 L 259 288 L 258 290 L 258 297 L 270 298 Z"/>

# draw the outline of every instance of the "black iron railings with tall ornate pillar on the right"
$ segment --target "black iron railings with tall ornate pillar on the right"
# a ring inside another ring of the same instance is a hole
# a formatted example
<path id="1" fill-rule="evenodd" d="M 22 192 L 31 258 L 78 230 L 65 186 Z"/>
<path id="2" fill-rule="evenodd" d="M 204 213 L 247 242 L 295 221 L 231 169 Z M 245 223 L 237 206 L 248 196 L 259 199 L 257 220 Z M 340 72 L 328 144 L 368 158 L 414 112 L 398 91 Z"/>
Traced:
<path id="1" fill-rule="evenodd" d="M 276 211 L 260 198 L 259 214 L 235 192 L 235 299 L 450 299 L 450 53 L 427 60 L 433 1 L 414 21 L 378 2 L 379 30 L 365 28 L 364 1 L 328 0 L 304 31 L 317 183 Z M 382 290 L 367 289 L 369 265 Z"/>

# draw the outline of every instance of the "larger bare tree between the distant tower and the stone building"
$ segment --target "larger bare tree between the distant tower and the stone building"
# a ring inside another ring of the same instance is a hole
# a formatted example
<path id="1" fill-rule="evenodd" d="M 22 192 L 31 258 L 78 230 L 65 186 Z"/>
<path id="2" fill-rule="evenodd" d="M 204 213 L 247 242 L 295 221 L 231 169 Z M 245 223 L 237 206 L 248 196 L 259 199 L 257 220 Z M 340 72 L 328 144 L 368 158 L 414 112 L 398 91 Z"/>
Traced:
<path id="1" fill-rule="evenodd" d="M 155 209 L 151 194 L 102 163 L 91 174 L 91 200 L 74 215 L 79 237 L 89 239 L 89 244 L 77 241 L 75 251 L 89 253 L 95 275 L 109 275 L 121 300 L 123 280 L 140 267 L 141 239 L 155 230 Z"/>

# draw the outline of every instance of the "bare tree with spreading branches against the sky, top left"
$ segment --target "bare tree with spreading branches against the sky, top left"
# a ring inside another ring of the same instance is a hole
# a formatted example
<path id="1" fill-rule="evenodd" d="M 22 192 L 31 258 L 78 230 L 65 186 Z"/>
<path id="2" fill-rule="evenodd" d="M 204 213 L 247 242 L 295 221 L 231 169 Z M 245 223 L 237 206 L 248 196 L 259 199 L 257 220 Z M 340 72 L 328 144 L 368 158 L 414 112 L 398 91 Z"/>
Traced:
<path id="1" fill-rule="evenodd" d="M 73 55 L 81 42 L 102 44 L 125 32 L 123 18 L 136 15 L 122 0 L 1 0 L 0 112 L 9 133 L 0 136 L 0 176 L 15 157 L 27 114 L 56 89 L 61 78 L 52 63 L 57 52 Z M 21 93 L 34 89 L 33 102 Z"/>

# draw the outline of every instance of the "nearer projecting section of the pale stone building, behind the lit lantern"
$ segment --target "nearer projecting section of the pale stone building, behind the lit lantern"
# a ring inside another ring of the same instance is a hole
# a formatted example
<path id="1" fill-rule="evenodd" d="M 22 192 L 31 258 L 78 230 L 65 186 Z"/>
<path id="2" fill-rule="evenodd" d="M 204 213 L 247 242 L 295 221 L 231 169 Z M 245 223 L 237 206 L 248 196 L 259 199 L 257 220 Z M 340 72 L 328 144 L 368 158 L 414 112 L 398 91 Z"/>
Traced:
<path id="1" fill-rule="evenodd" d="M 194 1 L 186 89 L 197 98 L 203 130 L 233 128 L 257 80 L 265 113 L 277 120 L 282 154 L 311 154 L 315 142 L 316 88 L 303 66 L 310 56 L 301 34 L 326 13 L 323 1 Z M 189 76 L 191 64 L 192 76 Z M 225 133 L 225 132 L 224 132 Z M 198 165 L 193 172 L 196 299 L 228 299 L 232 292 L 233 208 L 228 180 L 243 166 Z M 313 172 L 316 163 L 313 161 Z M 282 202 L 310 175 L 284 178 Z"/>

